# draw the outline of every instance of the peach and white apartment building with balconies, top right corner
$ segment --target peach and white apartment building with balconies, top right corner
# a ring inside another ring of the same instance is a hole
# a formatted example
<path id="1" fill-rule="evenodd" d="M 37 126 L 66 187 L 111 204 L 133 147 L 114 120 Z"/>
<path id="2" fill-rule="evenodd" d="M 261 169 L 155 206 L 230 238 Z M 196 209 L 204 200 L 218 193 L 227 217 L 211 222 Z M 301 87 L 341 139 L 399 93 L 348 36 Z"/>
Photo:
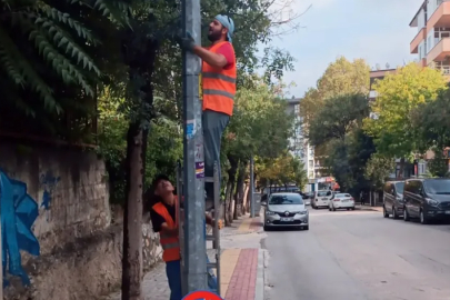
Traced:
<path id="1" fill-rule="evenodd" d="M 418 33 L 410 43 L 422 67 L 436 68 L 450 80 L 450 1 L 426 0 L 410 27 Z"/>

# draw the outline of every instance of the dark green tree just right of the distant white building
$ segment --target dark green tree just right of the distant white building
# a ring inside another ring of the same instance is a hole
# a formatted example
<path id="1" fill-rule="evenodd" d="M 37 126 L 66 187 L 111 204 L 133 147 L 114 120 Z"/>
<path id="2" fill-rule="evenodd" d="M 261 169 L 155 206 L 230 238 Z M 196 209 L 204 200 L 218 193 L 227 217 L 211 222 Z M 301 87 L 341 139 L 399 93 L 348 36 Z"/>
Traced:
<path id="1" fill-rule="evenodd" d="M 342 94 L 327 99 L 309 126 L 309 141 L 327 153 L 324 167 L 344 191 L 367 184 L 361 170 L 374 150 L 360 128 L 368 116 L 369 104 L 363 94 Z"/>

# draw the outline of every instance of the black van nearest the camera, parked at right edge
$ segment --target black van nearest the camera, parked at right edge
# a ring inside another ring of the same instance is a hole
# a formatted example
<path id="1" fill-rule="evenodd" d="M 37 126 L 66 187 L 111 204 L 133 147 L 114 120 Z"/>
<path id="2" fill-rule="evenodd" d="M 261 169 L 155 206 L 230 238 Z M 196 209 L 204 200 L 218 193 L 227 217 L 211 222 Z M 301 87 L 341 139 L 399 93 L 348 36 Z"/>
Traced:
<path id="1" fill-rule="evenodd" d="M 426 224 L 431 220 L 450 220 L 450 179 L 408 179 L 403 199 L 404 221 L 419 218 Z"/>

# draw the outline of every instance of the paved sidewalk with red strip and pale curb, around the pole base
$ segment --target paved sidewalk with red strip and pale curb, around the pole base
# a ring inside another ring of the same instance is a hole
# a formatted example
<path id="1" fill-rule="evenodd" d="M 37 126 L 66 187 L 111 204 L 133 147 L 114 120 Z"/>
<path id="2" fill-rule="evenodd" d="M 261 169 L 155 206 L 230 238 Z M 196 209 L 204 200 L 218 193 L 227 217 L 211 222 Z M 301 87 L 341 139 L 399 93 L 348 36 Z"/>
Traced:
<path id="1" fill-rule="evenodd" d="M 263 231 L 259 218 L 249 216 L 234 220 L 231 227 L 221 230 L 221 297 L 226 300 L 263 300 L 264 250 L 260 249 Z M 208 256 L 213 260 L 214 250 L 208 244 Z M 168 300 L 170 290 L 166 264 L 158 263 L 143 278 L 146 300 Z M 120 300 L 120 292 L 108 300 Z"/>

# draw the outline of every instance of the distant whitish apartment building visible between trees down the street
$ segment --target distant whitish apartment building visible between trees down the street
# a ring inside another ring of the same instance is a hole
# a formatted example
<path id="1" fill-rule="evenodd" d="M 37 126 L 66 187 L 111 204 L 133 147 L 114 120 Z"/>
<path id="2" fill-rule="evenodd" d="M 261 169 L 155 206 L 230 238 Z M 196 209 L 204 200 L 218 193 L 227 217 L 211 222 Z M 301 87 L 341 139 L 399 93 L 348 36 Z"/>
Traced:
<path id="1" fill-rule="evenodd" d="M 303 124 L 300 117 L 300 101 L 301 99 L 294 97 L 287 100 L 287 114 L 293 113 L 293 116 L 296 117 L 294 134 L 290 139 L 290 151 L 294 157 L 299 158 L 303 162 L 303 168 L 308 174 L 308 180 L 309 182 L 311 182 L 314 180 L 314 149 L 308 142 L 308 139 L 303 136 L 302 132 Z M 310 190 L 311 187 L 307 187 L 307 191 Z"/>

